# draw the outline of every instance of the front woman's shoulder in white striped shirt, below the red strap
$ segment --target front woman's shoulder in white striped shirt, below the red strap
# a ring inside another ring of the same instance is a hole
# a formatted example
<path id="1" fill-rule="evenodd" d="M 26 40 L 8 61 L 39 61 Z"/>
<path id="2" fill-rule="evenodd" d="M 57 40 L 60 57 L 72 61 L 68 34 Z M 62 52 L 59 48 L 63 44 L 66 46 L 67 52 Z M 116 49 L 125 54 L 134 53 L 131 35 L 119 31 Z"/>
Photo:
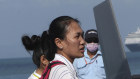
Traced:
<path id="1" fill-rule="evenodd" d="M 73 79 L 72 72 L 66 65 L 57 65 L 51 69 L 49 79 Z"/>

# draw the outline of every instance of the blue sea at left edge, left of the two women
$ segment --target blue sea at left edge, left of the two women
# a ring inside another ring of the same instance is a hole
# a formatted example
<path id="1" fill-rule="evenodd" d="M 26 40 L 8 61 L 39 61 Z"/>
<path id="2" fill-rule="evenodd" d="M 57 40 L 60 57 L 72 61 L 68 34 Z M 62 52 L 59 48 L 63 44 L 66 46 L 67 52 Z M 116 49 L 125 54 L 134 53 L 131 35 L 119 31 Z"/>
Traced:
<path id="1" fill-rule="evenodd" d="M 35 69 L 32 58 L 0 59 L 0 79 L 27 79 Z"/>

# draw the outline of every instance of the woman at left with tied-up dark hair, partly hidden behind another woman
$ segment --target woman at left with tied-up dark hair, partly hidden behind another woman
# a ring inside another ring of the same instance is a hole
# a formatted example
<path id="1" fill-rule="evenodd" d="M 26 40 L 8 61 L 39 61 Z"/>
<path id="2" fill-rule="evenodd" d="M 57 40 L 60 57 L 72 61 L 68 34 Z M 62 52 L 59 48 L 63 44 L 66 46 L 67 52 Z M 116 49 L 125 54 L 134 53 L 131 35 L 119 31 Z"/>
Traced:
<path id="1" fill-rule="evenodd" d="M 28 79 L 39 79 L 48 65 L 49 61 L 52 60 L 48 57 L 48 44 L 46 41 L 48 38 L 44 35 L 47 32 L 43 32 L 42 36 L 33 35 L 31 38 L 29 36 L 22 37 L 22 43 L 27 51 L 33 51 L 33 62 L 37 66 L 37 69 L 31 74 Z"/>

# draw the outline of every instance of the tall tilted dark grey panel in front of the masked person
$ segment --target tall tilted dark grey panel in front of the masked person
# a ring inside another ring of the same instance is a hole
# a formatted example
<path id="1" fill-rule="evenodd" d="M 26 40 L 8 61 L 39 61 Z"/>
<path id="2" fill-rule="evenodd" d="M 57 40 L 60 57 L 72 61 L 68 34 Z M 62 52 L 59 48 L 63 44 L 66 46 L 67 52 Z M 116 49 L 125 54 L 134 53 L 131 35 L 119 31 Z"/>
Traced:
<path id="1" fill-rule="evenodd" d="M 93 10 L 107 79 L 131 79 L 111 1 L 106 0 Z"/>

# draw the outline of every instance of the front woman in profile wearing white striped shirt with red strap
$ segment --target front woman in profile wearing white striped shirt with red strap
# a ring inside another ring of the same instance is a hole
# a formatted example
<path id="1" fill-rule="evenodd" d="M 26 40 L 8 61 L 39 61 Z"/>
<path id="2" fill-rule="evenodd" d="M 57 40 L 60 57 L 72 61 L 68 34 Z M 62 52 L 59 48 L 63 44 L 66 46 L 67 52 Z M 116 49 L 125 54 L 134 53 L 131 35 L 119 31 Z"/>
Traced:
<path id="1" fill-rule="evenodd" d="M 52 21 L 49 27 L 50 54 L 53 61 L 63 62 L 51 68 L 48 79 L 77 79 L 72 65 L 75 58 L 84 56 L 83 31 L 79 21 L 69 16 L 60 16 Z M 51 62 L 53 62 L 51 61 Z M 41 79 L 45 78 L 45 72 Z M 46 79 L 46 78 L 45 78 Z"/>

